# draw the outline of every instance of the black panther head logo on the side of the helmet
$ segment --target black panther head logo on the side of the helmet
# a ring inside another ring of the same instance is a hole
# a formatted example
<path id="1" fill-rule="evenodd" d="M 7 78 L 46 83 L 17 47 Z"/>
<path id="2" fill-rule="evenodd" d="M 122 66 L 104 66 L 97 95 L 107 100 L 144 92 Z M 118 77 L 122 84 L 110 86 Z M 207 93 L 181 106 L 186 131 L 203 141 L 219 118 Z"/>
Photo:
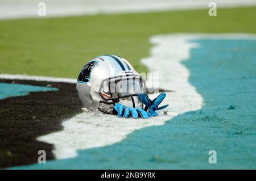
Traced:
<path id="1" fill-rule="evenodd" d="M 95 68 L 95 66 L 98 64 L 99 61 L 90 61 L 88 64 L 86 64 L 80 74 L 79 77 L 77 78 L 77 82 L 82 82 L 82 83 L 87 83 L 90 81 L 90 73 L 92 70 Z"/>

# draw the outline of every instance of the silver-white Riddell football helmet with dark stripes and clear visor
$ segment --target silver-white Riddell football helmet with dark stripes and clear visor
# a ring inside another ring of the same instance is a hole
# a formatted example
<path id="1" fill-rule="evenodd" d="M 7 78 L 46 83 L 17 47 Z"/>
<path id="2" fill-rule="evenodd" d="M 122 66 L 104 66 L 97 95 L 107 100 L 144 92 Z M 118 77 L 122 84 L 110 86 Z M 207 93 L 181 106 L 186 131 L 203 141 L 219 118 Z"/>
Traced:
<path id="1" fill-rule="evenodd" d="M 76 89 L 83 111 L 112 114 L 118 102 L 143 108 L 137 95 L 146 92 L 146 81 L 127 60 L 107 54 L 94 58 L 82 68 Z"/>

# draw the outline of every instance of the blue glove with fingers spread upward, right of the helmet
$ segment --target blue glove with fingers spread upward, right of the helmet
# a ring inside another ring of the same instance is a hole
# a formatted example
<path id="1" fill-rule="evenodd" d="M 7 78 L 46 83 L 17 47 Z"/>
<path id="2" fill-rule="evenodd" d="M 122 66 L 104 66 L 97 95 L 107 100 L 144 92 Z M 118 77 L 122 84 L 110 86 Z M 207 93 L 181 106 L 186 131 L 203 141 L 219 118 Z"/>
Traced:
<path id="1" fill-rule="evenodd" d="M 146 93 L 138 94 L 139 100 L 143 104 L 145 104 L 144 111 L 148 111 L 148 116 L 157 116 L 158 113 L 156 111 L 163 110 L 164 108 L 168 107 L 168 104 L 165 104 L 164 106 L 158 107 L 160 103 L 166 98 L 166 93 L 162 92 L 159 96 L 157 96 L 154 100 L 150 100 L 148 98 L 148 95 Z"/>

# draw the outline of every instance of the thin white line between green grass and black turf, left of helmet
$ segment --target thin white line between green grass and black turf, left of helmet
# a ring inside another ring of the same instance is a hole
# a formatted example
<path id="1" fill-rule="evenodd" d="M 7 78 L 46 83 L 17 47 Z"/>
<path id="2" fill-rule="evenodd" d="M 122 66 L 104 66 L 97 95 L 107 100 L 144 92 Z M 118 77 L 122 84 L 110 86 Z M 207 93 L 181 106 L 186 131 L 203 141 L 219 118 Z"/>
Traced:
<path id="1" fill-rule="evenodd" d="M 76 83 L 76 79 L 74 79 L 74 78 L 59 78 L 59 77 L 57 78 L 57 77 L 19 75 L 19 74 L 14 74 L 14 75 L 13 74 L 0 74 L 0 79 Z"/>

